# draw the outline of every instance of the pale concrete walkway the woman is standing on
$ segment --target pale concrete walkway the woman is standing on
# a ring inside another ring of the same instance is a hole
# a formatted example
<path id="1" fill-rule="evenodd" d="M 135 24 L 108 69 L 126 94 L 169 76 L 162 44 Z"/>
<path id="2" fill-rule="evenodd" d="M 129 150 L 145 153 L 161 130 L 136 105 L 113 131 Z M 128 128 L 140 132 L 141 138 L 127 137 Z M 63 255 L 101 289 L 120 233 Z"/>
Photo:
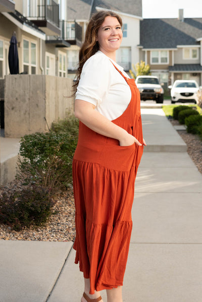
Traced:
<path id="1" fill-rule="evenodd" d="M 162 109 L 143 108 L 142 121 L 123 301 L 201 302 L 202 175 Z M 0 302 L 79 302 L 72 245 L 0 240 Z"/>

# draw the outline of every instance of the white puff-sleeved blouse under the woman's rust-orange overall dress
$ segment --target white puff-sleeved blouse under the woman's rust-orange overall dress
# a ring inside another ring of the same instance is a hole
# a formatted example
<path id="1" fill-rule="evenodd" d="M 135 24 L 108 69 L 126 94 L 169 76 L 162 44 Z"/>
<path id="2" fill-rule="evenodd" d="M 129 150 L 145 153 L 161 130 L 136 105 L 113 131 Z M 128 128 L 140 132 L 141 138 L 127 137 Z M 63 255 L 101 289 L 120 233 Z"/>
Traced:
<path id="1" fill-rule="evenodd" d="M 126 110 L 131 90 L 111 61 L 128 77 L 121 66 L 99 50 L 83 65 L 76 99 L 95 105 L 95 110 L 113 120 Z"/>

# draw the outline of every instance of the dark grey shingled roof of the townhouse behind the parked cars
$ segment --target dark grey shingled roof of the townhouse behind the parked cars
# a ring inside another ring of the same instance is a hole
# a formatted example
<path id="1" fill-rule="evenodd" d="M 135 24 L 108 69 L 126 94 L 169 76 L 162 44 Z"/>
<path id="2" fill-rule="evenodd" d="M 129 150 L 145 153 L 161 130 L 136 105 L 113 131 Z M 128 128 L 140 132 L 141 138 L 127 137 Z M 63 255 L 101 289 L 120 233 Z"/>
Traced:
<path id="1" fill-rule="evenodd" d="M 199 45 L 202 18 L 144 19 L 140 21 L 140 45 L 143 48 L 176 48 L 177 45 Z"/>

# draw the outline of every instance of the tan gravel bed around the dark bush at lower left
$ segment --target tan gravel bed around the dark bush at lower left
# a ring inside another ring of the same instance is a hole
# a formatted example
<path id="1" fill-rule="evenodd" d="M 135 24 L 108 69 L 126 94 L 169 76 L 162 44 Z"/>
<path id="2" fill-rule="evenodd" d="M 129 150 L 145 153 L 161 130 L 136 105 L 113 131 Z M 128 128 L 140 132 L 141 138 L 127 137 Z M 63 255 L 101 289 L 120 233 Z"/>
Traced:
<path id="1" fill-rule="evenodd" d="M 2 186 L 4 188 L 20 186 L 12 182 Z M 43 227 L 24 228 L 21 231 L 11 229 L 8 225 L 0 224 L 0 239 L 4 240 L 37 240 L 37 241 L 74 241 L 75 222 L 74 222 L 74 198 L 73 190 L 69 189 L 64 194 L 55 196 L 56 201 L 53 207 L 53 214 Z"/>

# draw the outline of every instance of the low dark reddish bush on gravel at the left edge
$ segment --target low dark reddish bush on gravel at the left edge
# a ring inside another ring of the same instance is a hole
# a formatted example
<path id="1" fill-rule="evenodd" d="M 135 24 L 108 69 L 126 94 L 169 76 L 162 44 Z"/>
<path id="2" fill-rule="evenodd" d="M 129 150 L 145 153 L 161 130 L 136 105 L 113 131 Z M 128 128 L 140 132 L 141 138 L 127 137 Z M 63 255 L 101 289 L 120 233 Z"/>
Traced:
<path id="1" fill-rule="evenodd" d="M 15 230 L 24 226 L 44 224 L 51 215 L 53 201 L 48 191 L 39 186 L 28 186 L 21 191 L 6 189 L 0 196 L 0 222 Z"/>

